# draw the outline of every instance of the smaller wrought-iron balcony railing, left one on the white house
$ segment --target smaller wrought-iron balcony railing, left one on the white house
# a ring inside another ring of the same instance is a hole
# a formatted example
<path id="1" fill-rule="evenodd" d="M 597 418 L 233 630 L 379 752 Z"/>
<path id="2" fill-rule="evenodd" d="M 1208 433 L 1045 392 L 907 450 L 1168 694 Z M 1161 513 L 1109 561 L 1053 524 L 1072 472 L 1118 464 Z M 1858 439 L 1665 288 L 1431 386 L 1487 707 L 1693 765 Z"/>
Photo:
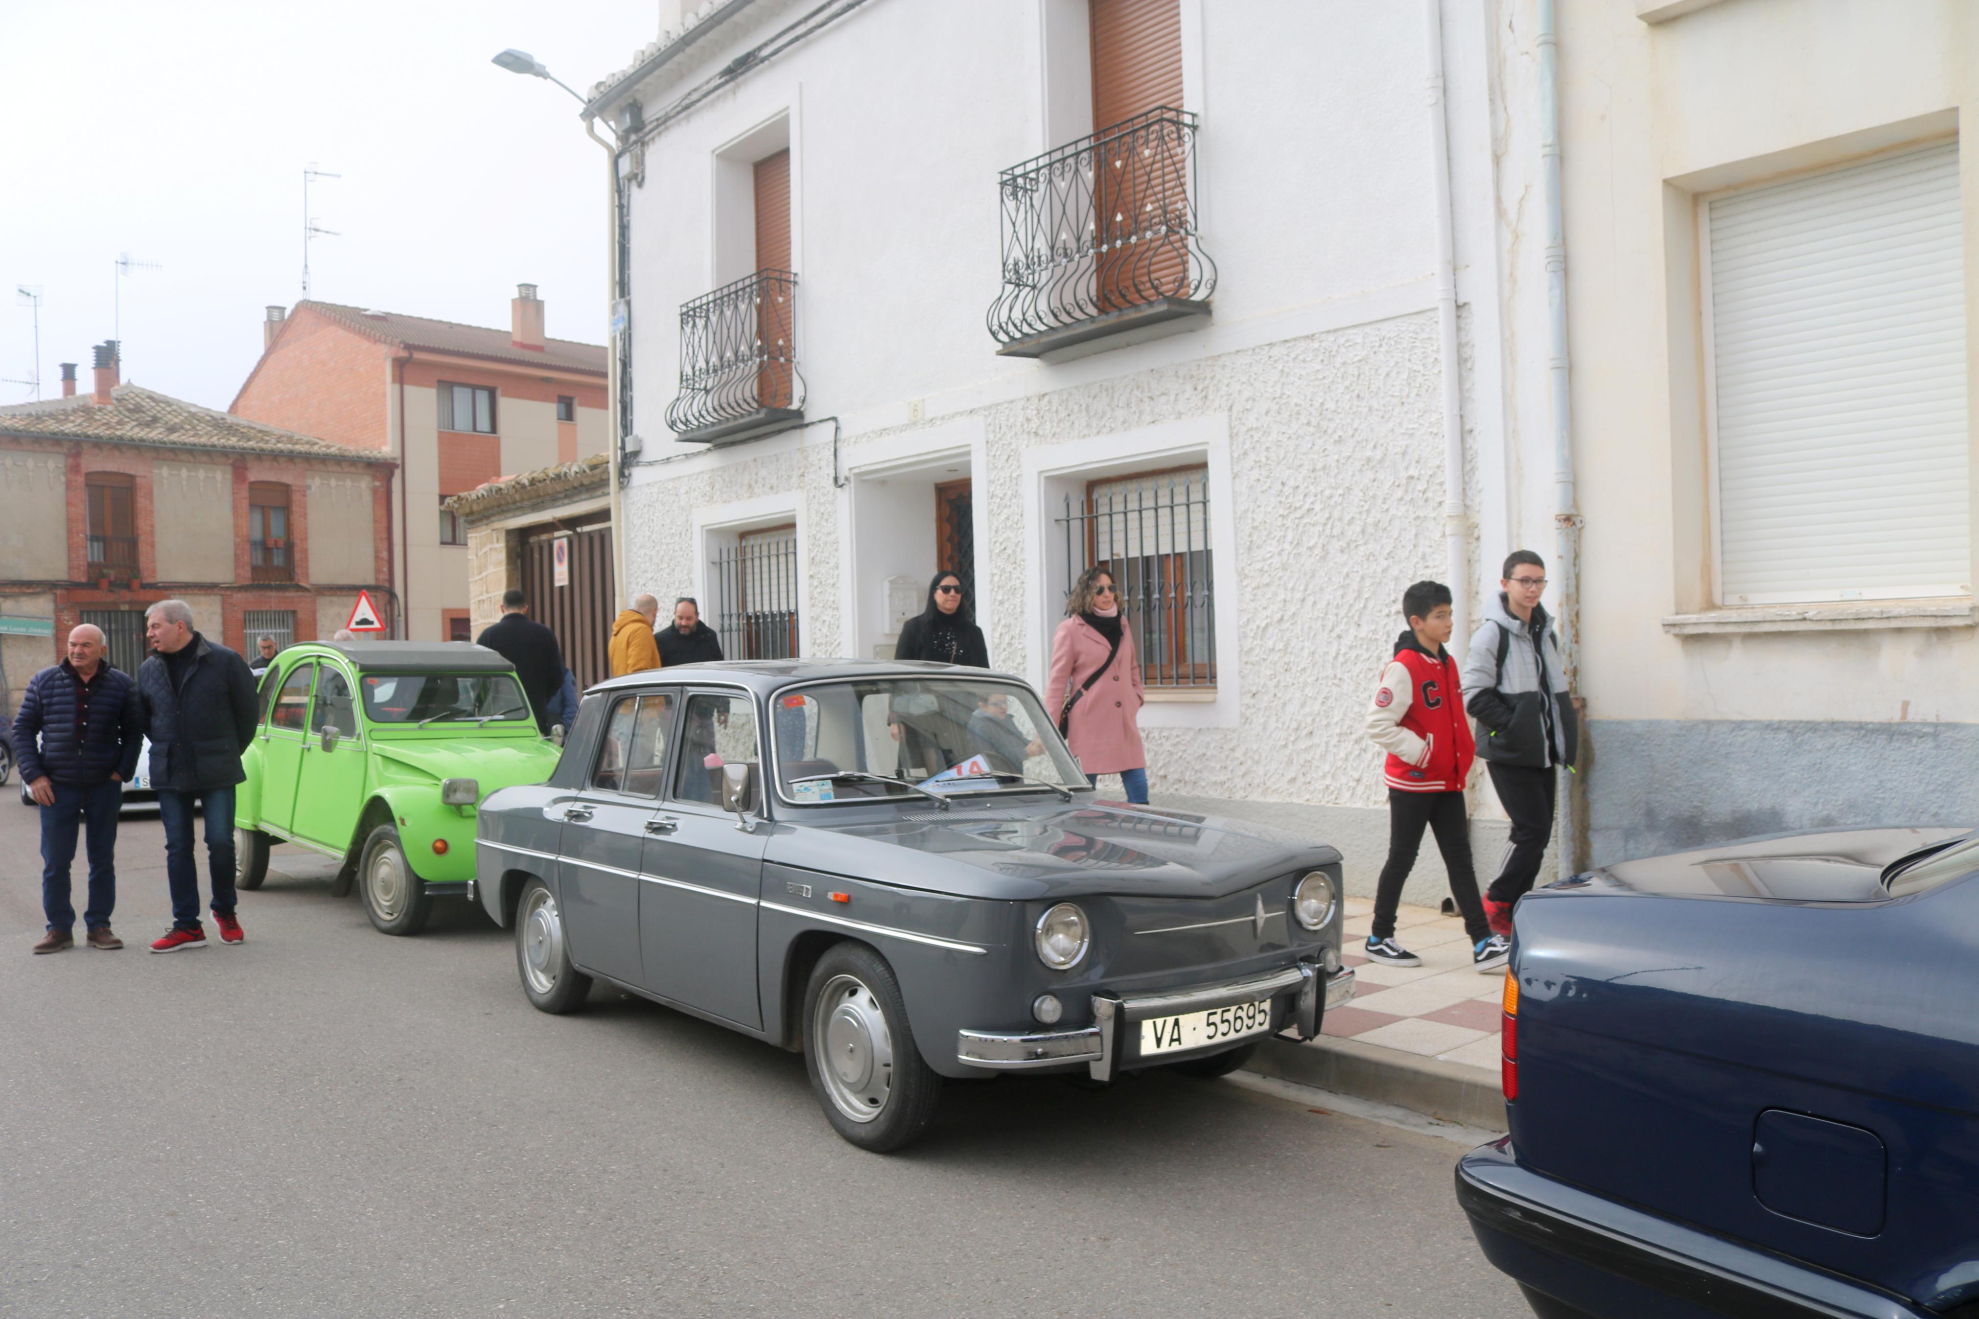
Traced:
<path id="1" fill-rule="evenodd" d="M 801 415 L 796 275 L 756 271 L 681 307 L 681 394 L 667 425 L 683 441 Z"/>

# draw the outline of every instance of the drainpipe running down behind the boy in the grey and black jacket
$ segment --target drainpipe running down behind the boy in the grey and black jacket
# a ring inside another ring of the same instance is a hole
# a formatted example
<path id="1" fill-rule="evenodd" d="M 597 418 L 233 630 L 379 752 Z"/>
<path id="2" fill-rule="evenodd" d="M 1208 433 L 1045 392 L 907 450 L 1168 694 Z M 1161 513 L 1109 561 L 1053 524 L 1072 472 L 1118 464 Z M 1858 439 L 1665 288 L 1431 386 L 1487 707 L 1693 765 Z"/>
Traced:
<path id="1" fill-rule="evenodd" d="M 1540 164 L 1546 192 L 1546 368 L 1554 397 L 1554 556 L 1559 573 L 1559 657 L 1567 698 L 1581 662 L 1581 514 L 1573 494 L 1573 397 L 1567 390 L 1567 223 L 1559 202 L 1559 32 L 1555 0 L 1540 0 Z M 1583 738 L 1585 742 L 1585 738 Z M 1559 771 L 1555 848 L 1561 876 L 1581 868 L 1573 773 Z"/>

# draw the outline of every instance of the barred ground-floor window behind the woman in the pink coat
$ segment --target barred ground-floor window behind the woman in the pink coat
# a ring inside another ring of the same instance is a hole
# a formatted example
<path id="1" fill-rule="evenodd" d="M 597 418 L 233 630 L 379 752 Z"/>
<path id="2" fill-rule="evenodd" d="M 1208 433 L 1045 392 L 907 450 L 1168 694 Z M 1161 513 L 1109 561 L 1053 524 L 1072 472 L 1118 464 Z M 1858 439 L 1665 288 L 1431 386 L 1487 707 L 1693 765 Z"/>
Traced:
<path id="1" fill-rule="evenodd" d="M 1215 579 L 1209 560 L 1209 469 L 1183 467 L 1088 481 L 1065 498 L 1065 589 L 1104 568 L 1134 629 L 1142 682 L 1215 690 Z"/>

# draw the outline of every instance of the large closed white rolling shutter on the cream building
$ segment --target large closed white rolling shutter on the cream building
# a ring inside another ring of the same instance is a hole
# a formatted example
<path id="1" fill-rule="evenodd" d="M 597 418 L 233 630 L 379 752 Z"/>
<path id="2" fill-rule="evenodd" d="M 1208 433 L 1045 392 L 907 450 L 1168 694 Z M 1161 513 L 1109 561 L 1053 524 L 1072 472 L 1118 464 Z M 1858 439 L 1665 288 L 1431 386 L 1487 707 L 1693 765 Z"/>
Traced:
<path id="1" fill-rule="evenodd" d="M 1957 144 L 1706 204 L 1720 603 L 1971 591 Z"/>

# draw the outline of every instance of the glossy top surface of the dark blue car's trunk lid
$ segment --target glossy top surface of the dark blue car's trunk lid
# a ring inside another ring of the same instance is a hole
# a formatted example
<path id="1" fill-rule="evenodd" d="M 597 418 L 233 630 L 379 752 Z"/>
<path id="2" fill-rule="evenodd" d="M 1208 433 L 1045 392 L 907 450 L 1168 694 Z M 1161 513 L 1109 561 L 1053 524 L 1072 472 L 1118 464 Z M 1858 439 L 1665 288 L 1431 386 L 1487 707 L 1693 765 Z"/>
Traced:
<path id="1" fill-rule="evenodd" d="M 1882 868 L 1898 856 L 1971 829 L 1840 829 L 1745 838 L 1692 852 L 1625 860 L 1567 886 L 1680 898 L 1775 898 L 1781 902 L 1876 902 Z"/>

